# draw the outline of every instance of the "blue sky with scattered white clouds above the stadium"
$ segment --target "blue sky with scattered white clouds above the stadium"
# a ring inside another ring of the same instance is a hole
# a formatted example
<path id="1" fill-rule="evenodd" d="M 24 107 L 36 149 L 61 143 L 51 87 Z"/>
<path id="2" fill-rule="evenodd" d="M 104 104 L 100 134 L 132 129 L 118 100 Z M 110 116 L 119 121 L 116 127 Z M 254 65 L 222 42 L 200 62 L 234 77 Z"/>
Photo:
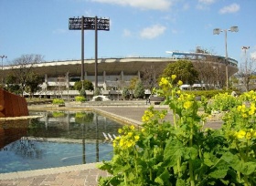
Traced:
<path id="1" fill-rule="evenodd" d="M 193 52 L 197 46 L 238 61 L 256 57 L 255 0 L 0 0 L 0 55 L 4 64 L 26 54 L 46 61 L 80 59 L 81 33 L 69 30 L 69 17 L 111 20 L 98 33 L 98 57 L 170 57 L 165 51 Z M 85 58 L 94 58 L 94 31 L 85 31 Z"/>

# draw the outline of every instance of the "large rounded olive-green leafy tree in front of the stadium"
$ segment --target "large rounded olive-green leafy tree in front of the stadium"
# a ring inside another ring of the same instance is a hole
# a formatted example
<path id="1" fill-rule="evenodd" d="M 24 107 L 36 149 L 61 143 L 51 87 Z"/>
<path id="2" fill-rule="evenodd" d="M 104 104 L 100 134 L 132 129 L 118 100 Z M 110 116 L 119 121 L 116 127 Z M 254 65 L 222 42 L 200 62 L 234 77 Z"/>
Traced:
<path id="1" fill-rule="evenodd" d="M 176 75 L 176 81 L 182 80 L 184 83 L 189 85 L 194 84 L 198 79 L 197 70 L 194 68 L 192 62 L 188 60 L 178 60 L 174 63 L 168 64 L 161 77 L 167 78 L 172 75 Z"/>

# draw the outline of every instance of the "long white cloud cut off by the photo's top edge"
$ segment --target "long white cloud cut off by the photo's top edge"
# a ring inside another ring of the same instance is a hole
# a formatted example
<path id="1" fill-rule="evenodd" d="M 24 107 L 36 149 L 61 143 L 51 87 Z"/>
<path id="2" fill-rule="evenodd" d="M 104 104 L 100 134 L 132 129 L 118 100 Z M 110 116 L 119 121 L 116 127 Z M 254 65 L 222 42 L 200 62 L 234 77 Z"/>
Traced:
<path id="1" fill-rule="evenodd" d="M 91 0 L 99 3 L 129 5 L 141 9 L 168 10 L 175 0 Z"/>

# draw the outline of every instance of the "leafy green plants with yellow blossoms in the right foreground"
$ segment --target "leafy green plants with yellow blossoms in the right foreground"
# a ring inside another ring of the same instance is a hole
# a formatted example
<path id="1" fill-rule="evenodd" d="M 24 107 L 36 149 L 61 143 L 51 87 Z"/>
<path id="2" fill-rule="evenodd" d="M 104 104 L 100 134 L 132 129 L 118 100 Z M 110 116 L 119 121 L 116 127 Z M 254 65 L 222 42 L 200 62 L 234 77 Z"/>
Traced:
<path id="1" fill-rule="evenodd" d="M 151 107 L 141 129 L 118 130 L 112 160 L 100 166 L 112 176 L 101 178 L 100 185 L 256 185 L 256 93 L 230 101 L 222 127 L 206 129 L 208 115 L 198 110 L 210 101 L 197 101 L 174 81 L 161 78 L 156 90 L 169 110 Z M 215 99 L 229 100 L 224 97 Z M 173 119 L 166 121 L 167 112 Z"/>

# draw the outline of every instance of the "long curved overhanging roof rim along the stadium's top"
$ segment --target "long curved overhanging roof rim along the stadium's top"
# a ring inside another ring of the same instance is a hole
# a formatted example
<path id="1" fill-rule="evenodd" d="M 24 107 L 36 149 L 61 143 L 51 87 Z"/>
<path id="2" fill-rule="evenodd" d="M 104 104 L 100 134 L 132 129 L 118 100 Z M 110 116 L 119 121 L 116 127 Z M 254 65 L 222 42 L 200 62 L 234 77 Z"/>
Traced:
<path id="1" fill-rule="evenodd" d="M 170 53 L 170 52 L 168 52 Z M 178 59 L 190 59 L 192 62 L 198 59 L 204 59 L 212 63 L 219 63 L 225 66 L 225 57 L 201 54 L 201 53 L 185 53 L 185 52 L 171 52 L 172 57 L 124 57 L 124 58 L 98 58 L 98 75 L 106 72 L 106 75 L 118 75 L 123 71 L 124 75 L 137 75 L 138 71 L 144 67 L 154 67 L 156 70 L 163 70 L 168 63 L 175 62 Z M 204 61 L 203 60 L 203 61 Z M 19 66 L 5 66 L 3 67 L 7 75 L 12 68 Z M 38 74 L 48 77 L 63 76 L 69 72 L 69 76 L 80 77 L 80 60 L 65 60 L 65 61 L 51 61 L 43 62 L 34 65 L 34 69 Z M 84 71 L 88 76 L 95 74 L 95 60 L 84 60 Z M 233 75 L 238 71 L 238 62 L 229 57 L 229 75 Z"/>

